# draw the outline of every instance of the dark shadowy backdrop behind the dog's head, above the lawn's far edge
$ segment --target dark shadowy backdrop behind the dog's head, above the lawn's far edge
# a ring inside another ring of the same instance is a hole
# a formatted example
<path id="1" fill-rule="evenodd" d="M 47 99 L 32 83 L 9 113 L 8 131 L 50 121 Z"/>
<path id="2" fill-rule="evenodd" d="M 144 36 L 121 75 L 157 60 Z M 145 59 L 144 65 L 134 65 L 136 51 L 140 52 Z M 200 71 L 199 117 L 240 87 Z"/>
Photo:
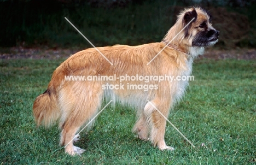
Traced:
<path id="1" fill-rule="evenodd" d="M 213 15 L 220 31 L 216 48 L 256 47 L 255 1 L 24 0 L 0 1 L 0 47 L 88 48 L 160 42 L 184 7 Z"/>

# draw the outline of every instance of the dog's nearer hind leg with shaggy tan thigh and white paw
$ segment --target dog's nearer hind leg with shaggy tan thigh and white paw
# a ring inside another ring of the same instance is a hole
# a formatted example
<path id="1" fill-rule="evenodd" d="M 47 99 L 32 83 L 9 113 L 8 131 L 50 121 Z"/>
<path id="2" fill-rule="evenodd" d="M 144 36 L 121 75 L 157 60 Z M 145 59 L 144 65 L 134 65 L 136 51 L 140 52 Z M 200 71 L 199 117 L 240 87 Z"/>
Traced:
<path id="1" fill-rule="evenodd" d="M 73 141 L 77 140 L 75 133 L 86 122 L 90 122 L 101 105 L 103 94 L 101 86 L 97 84 L 85 86 L 85 84 L 83 82 L 83 84 L 69 85 L 60 91 L 59 100 L 62 111 L 60 144 L 65 146 L 65 151 L 69 155 L 80 155 L 85 151 L 73 145 Z"/>

